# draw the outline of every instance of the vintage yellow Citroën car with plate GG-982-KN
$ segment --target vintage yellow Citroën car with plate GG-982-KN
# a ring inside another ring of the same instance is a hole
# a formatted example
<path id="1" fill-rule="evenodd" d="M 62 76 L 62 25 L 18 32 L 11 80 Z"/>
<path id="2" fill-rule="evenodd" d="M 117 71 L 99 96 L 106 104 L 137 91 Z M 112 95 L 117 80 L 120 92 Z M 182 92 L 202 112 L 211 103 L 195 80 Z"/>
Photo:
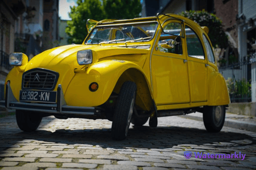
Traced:
<path id="1" fill-rule="evenodd" d="M 36 130 L 49 115 L 100 118 L 113 122 L 113 139 L 123 140 L 130 123 L 141 126 L 149 118 L 155 128 L 157 117 L 194 112 L 203 113 L 207 131 L 222 129 L 230 101 L 207 27 L 157 14 L 88 20 L 87 30 L 83 44 L 46 50 L 30 61 L 10 54 L 14 67 L 0 103 L 16 109 L 21 130 Z"/>

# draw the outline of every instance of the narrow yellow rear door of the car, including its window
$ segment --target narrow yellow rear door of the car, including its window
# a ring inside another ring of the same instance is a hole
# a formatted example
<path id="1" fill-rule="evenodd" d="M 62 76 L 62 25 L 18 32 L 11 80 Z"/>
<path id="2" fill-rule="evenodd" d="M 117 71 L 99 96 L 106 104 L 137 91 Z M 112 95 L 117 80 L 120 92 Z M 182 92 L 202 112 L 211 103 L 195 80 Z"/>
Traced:
<path id="1" fill-rule="evenodd" d="M 207 101 L 207 62 L 202 39 L 185 25 L 191 103 Z"/>

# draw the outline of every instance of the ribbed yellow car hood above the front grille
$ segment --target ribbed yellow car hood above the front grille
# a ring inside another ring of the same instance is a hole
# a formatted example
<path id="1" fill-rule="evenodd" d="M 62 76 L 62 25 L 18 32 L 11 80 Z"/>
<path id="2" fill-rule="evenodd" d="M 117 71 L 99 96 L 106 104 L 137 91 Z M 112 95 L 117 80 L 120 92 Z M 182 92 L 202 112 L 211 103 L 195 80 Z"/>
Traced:
<path id="1" fill-rule="evenodd" d="M 95 45 L 67 45 L 53 49 L 46 50 L 45 52 L 36 55 L 29 61 L 26 67 L 26 71 L 41 67 L 44 69 L 54 69 L 58 65 L 61 67 L 69 65 L 78 69 L 83 65 L 78 65 L 76 60 L 76 53 L 79 50 L 91 49 L 98 55 L 98 59 L 117 56 L 117 55 L 129 55 L 129 54 L 147 54 L 147 49 L 136 49 L 136 48 L 122 48 L 122 47 L 109 47 L 109 46 L 95 46 Z"/>

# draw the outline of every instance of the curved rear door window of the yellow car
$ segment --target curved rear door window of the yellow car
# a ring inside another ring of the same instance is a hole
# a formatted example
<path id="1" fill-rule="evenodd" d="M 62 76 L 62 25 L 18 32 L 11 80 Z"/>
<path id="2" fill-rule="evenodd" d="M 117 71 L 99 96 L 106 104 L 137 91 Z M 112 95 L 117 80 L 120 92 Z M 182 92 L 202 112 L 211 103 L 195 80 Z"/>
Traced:
<path id="1" fill-rule="evenodd" d="M 185 27 L 185 33 L 188 56 L 204 60 L 205 56 L 203 46 L 196 33 L 193 30 L 191 30 L 187 25 Z"/>

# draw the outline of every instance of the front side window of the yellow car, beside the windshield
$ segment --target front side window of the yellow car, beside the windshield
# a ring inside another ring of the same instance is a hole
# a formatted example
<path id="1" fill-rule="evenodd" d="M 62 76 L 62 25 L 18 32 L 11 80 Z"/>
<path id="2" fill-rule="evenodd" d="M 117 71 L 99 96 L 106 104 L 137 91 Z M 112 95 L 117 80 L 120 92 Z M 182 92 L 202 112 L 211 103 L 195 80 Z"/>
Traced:
<path id="1" fill-rule="evenodd" d="M 169 23 L 164 27 L 164 32 L 161 33 L 157 47 L 160 52 L 182 54 L 181 38 L 178 37 L 181 34 L 180 23 Z M 169 35 L 167 33 L 171 33 Z M 177 36 L 175 36 L 177 35 Z"/>

